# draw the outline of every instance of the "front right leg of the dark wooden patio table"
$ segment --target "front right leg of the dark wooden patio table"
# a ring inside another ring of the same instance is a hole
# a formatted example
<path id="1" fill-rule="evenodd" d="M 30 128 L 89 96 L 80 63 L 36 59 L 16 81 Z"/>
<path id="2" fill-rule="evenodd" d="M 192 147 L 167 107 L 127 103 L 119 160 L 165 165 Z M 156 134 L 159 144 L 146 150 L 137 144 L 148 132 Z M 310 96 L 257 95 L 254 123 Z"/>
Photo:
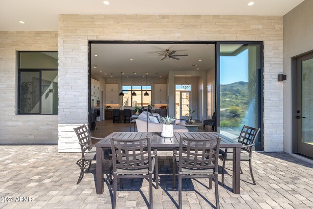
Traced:
<path id="1" fill-rule="evenodd" d="M 233 192 L 240 194 L 240 147 L 233 150 Z"/>

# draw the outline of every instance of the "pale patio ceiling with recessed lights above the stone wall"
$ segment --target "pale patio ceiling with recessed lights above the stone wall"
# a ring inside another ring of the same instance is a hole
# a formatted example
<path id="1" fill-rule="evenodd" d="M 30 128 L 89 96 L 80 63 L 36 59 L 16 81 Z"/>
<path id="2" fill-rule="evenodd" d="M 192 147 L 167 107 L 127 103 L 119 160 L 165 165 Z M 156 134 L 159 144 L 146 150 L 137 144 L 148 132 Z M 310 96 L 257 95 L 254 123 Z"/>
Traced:
<path id="1" fill-rule="evenodd" d="M 57 31 L 59 14 L 283 16 L 304 0 L 252 0 L 255 4 L 247 6 L 249 1 L 110 0 L 105 5 L 103 0 L 0 0 L 0 31 Z"/>

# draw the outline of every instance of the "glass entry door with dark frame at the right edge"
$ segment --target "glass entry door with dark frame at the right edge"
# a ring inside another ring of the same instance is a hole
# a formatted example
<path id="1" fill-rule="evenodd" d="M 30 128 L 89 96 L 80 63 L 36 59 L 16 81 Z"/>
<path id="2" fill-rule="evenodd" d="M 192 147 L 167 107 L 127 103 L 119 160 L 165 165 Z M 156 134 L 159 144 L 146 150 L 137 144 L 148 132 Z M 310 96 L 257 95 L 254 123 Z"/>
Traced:
<path id="1" fill-rule="evenodd" d="M 313 157 L 313 54 L 297 65 L 297 152 Z"/>

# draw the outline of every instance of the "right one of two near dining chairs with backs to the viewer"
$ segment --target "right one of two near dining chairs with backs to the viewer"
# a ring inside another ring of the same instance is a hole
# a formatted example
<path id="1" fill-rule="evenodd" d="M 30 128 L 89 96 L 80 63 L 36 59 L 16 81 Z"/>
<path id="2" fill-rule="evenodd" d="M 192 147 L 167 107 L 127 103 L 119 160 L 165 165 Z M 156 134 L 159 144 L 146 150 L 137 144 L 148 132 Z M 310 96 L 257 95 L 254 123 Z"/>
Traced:
<path id="1" fill-rule="evenodd" d="M 182 178 L 208 178 L 209 189 L 212 189 L 214 178 L 216 208 L 220 208 L 218 191 L 218 151 L 221 137 L 215 139 L 188 139 L 180 137 L 179 153 L 173 155 L 173 188 L 176 186 L 176 168 L 178 169 L 179 209 L 181 201 Z"/>

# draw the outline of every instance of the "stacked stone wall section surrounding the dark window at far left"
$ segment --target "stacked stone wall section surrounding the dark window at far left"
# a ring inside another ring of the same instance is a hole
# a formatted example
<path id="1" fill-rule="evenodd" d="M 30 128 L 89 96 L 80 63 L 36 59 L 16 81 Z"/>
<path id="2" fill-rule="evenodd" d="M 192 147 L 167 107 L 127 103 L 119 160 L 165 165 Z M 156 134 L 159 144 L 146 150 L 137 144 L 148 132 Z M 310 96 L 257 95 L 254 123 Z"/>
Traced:
<path id="1" fill-rule="evenodd" d="M 0 143 L 58 143 L 58 116 L 17 115 L 17 51 L 57 51 L 56 31 L 0 31 Z"/>

